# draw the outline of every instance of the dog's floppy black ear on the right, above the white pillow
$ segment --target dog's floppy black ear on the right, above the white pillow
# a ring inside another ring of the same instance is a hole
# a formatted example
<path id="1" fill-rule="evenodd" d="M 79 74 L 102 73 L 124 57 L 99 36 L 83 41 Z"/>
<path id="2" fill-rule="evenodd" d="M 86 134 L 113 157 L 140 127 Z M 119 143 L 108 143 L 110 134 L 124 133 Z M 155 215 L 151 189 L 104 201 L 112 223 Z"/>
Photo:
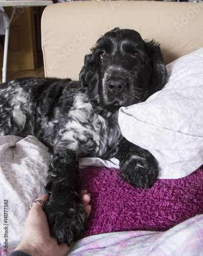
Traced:
<path id="1" fill-rule="evenodd" d="M 150 78 L 150 94 L 161 90 L 167 81 L 167 69 L 163 54 L 160 49 L 160 44 L 154 40 L 146 42 L 149 62 L 152 66 L 152 73 Z"/>

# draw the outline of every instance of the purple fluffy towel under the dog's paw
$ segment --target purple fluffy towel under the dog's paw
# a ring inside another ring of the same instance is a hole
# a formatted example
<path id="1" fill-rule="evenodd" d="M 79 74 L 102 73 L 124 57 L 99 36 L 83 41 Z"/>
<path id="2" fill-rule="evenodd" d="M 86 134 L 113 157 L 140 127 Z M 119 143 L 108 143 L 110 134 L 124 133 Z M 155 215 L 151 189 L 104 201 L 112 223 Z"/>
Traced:
<path id="1" fill-rule="evenodd" d="M 137 188 L 119 170 L 89 167 L 80 170 L 83 187 L 91 194 L 92 211 L 85 237 L 129 231 L 164 231 L 203 213 L 203 171 L 181 179 L 157 180 L 152 188 Z"/>

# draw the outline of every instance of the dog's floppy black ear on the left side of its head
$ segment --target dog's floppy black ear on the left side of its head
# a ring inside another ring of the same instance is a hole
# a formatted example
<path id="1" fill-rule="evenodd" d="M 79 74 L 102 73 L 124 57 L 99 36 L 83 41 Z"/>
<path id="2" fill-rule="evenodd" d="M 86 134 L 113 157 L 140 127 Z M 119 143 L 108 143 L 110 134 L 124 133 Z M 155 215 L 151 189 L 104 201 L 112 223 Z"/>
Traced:
<path id="1" fill-rule="evenodd" d="M 85 55 L 84 66 L 82 67 L 79 78 L 82 87 L 88 87 L 89 80 L 92 77 L 94 65 L 92 61 L 92 54 Z"/>

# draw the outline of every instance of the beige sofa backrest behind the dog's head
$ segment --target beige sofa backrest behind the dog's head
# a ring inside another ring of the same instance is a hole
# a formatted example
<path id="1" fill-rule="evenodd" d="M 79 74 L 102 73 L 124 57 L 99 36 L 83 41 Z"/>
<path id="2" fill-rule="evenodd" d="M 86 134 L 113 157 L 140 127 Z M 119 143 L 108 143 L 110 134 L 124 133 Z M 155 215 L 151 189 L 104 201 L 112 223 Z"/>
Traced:
<path id="1" fill-rule="evenodd" d="M 166 63 L 203 47 L 203 3 L 82 1 L 48 6 L 42 15 L 47 77 L 78 80 L 84 55 L 115 28 L 161 44 Z"/>

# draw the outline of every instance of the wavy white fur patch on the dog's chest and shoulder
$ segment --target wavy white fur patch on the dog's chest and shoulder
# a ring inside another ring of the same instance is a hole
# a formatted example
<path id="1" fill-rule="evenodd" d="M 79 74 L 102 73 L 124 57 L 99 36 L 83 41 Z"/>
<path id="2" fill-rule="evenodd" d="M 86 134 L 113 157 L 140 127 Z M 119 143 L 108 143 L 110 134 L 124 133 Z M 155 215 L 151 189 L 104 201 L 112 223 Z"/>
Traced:
<path id="1" fill-rule="evenodd" d="M 67 141 L 66 148 L 82 156 L 102 157 L 107 146 L 118 141 L 120 132 L 107 129 L 107 120 L 97 114 L 85 95 L 78 93 L 62 132 L 61 140 Z"/>

